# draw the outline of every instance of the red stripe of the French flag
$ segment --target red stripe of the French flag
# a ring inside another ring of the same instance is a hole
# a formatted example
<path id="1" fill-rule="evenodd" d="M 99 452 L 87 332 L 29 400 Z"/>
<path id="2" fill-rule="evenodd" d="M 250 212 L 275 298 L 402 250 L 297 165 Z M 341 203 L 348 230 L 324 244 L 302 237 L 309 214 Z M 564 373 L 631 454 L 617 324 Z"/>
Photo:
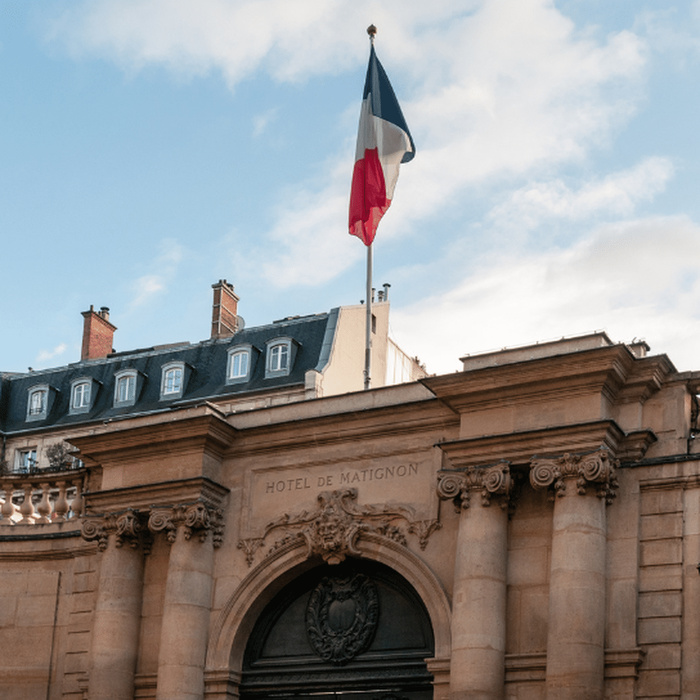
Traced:
<path id="1" fill-rule="evenodd" d="M 365 245 L 372 245 L 379 220 L 389 208 L 384 171 L 376 148 L 365 149 L 365 157 L 355 161 L 350 190 L 350 233 Z"/>

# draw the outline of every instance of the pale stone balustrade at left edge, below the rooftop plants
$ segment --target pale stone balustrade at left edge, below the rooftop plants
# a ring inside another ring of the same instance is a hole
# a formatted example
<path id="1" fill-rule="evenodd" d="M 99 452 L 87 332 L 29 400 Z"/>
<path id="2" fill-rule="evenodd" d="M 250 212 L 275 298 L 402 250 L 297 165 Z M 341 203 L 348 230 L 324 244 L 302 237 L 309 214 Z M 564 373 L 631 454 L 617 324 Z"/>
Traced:
<path id="1" fill-rule="evenodd" d="M 45 525 L 83 512 L 85 469 L 0 477 L 0 526 Z"/>

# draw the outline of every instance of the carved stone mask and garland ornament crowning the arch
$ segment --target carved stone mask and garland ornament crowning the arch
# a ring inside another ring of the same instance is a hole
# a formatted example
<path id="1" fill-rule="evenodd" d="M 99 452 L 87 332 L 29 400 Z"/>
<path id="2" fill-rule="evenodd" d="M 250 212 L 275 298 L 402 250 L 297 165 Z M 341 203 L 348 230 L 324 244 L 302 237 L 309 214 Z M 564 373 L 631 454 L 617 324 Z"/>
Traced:
<path id="1" fill-rule="evenodd" d="M 251 566 L 267 536 L 275 530 L 283 530 L 286 533 L 271 545 L 268 555 L 290 543 L 305 541 L 308 556 L 318 555 L 328 564 L 339 564 L 348 554 L 360 555 L 356 543 L 363 532 L 373 532 L 407 546 L 406 536 L 395 524 L 403 520 L 408 523 L 408 532 L 418 536 L 420 547 L 424 549 L 430 535 L 440 527 L 437 521 L 415 520 L 410 508 L 358 506 L 356 501 L 357 489 L 354 488 L 323 491 L 318 495 L 319 508 L 298 515 L 285 514 L 268 523 L 261 537 L 242 539 L 238 548 L 245 552 L 248 566 Z"/>

